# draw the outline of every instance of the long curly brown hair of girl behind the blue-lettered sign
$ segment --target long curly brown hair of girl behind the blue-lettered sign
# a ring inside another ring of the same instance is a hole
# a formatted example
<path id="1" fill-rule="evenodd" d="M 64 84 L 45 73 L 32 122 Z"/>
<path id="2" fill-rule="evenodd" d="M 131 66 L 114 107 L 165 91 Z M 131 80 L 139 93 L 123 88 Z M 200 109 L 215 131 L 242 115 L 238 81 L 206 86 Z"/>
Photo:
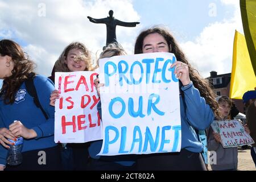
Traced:
<path id="1" fill-rule="evenodd" d="M 178 44 L 176 43 L 174 36 L 172 36 L 168 30 L 160 27 L 152 27 L 142 31 L 136 39 L 134 53 L 142 53 L 144 38 L 147 35 L 154 33 L 162 35 L 168 43 L 170 52 L 175 54 L 176 59 L 188 65 L 189 78 L 193 82 L 193 85 L 199 90 L 201 97 L 205 98 L 207 104 L 209 104 L 209 106 L 212 108 L 214 115 L 219 116 L 220 114 L 218 113 L 218 103 L 216 102 L 216 100 L 214 100 L 215 94 L 212 88 L 210 88 L 209 81 L 201 77 L 199 75 L 199 72 L 196 69 L 192 68 L 191 64 L 188 63 L 188 60 L 185 57 L 184 53 L 181 51 Z"/>

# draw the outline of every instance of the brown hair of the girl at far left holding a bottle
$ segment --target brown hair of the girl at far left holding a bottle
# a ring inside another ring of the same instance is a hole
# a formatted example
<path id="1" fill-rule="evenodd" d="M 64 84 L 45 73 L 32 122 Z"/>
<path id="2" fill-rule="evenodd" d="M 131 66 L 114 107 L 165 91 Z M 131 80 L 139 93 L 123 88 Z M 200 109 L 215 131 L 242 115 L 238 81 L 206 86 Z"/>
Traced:
<path id="1" fill-rule="evenodd" d="M 15 94 L 22 82 L 28 78 L 30 73 L 34 73 L 35 64 L 28 59 L 19 44 L 12 40 L 0 41 L 0 54 L 1 56 L 10 56 L 11 61 L 13 61 L 12 75 L 4 78 L 0 92 L 1 100 L 3 99 L 5 104 L 13 104 Z"/>

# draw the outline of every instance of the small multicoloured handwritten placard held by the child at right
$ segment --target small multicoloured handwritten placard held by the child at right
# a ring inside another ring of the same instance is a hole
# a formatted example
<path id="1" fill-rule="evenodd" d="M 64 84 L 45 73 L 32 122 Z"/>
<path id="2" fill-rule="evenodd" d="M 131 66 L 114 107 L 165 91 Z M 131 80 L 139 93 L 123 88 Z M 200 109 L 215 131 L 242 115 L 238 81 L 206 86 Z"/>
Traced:
<path id="1" fill-rule="evenodd" d="M 238 147 L 254 143 L 250 135 L 246 133 L 240 121 L 214 120 L 211 126 L 215 133 L 221 135 L 221 144 L 224 148 Z"/>

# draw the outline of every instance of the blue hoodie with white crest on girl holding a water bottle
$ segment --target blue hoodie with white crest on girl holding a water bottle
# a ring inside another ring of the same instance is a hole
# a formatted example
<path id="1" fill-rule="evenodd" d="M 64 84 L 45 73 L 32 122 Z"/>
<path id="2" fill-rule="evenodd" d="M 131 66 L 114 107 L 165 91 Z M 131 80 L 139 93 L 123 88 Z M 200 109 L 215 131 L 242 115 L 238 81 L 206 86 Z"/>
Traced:
<path id="1" fill-rule="evenodd" d="M 27 93 L 24 82 L 16 93 L 14 104 L 6 105 L 3 98 L 0 98 L 0 127 L 9 129 L 9 125 L 18 120 L 28 129 L 35 130 L 37 134 L 36 138 L 23 139 L 22 152 L 56 146 L 53 138 L 55 109 L 49 105 L 49 97 L 54 90 L 53 82 L 47 77 L 37 75 L 34 78 L 34 85 L 40 104 L 49 116 L 47 120 Z M 8 150 L 0 145 L 0 164 L 6 164 L 7 154 Z"/>

